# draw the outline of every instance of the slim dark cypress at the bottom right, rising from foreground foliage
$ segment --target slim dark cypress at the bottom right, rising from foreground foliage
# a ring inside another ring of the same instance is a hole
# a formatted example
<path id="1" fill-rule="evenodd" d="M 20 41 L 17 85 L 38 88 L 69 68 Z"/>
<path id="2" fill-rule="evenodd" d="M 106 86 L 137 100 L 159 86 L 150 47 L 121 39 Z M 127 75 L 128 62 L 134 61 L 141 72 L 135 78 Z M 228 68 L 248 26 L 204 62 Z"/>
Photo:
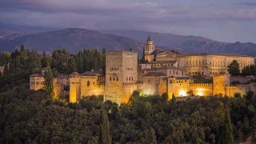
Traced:
<path id="1" fill-rule="evenodd" d="M 230 120 L 230 108 L 228 106 L 227 98 L 225 98 L 224 109 L 225 109 L 225 125 L 224 125 L 222 143 L 234 144 L 233 129 L 232 129 L 232 124 Z"/>

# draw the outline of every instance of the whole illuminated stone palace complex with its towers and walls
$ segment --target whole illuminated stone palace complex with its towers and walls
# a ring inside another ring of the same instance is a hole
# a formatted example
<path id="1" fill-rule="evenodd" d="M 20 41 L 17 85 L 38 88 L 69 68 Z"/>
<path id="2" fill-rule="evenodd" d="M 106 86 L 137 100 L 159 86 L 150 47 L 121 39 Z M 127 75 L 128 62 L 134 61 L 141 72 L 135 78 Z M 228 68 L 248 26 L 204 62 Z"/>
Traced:
<path id="1" fill-rule="evenodd" d="M 158 50 L 148 38 L 144 60 L 138 64 L 136 51 L 106 52 L 106 74 L 88 71 L 82 74 L 58 75 L 54 78 L 54 97 L 69 98 L 70 102 L 91 95 L 103 95 L 104 101 L 128 102 L 134 90 L 140 95 L 168 94 L 169 98 L 245 94 L 245 86 L 230 86 L 227 66 L 236 60 L 240 70 L 254 64 L 254 58 L 237 54 L 181 54 L 175 50 Z M 44 87 L 42 74 L 30 75 L 30 89 Z M 197 83 L 192 76 L 212 78 L 208 83 Z"/>

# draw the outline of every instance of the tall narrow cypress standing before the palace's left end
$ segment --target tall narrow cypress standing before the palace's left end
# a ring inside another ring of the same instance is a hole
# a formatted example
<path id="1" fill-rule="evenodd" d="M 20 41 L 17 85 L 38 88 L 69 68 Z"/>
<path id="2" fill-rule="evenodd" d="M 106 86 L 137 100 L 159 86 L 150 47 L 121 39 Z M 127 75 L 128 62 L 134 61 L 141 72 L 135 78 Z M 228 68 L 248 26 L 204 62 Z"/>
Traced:
<path id="1" fill-rule="evenodd" d="M 54 98 L 54 75 L 50 69 L 50 64 L 47 66 L 47 70 L 44 74 L 46 94 L 50 98 Z"/>

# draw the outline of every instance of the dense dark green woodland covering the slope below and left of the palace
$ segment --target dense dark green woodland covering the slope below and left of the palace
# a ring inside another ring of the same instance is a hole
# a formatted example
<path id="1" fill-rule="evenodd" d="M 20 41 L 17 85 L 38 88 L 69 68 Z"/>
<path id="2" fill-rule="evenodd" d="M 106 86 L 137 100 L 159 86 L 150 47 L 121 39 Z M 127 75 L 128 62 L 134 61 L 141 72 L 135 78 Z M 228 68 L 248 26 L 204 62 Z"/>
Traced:
<path id="1" fill-rule="evenodd" d="M 134 93 L 129 103 L 118 106 L 102 103 L 100 96 L 66 103 L 52 100 L 46 90 L 29 90 L 29 75 L 47 62 L 55 70 L 69 69 L 54 64 L 69 63 L 70 58 L 65 61 L 62 53 L 56 57 L 28 50 L 10 54 L 10 69 L 0 79 L 0 143 L 222 143 L 230 134 L 235 142 L 248 137 L 256 140 L 252 92 L 245 97 L 183 101 L 174 96 L 169 101 L 166 94 L 139 97 Z M 76 68 L 91 68 L 78 64 L 83 56 L 70 57 Z"/>

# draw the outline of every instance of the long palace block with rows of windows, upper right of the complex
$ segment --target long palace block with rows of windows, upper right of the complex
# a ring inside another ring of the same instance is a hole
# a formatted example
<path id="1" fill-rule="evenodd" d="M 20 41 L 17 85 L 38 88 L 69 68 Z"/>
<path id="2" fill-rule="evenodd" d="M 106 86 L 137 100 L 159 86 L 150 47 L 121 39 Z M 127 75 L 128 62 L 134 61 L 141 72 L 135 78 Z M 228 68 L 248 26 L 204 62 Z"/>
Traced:
<path id="1" fill-rule="evenodd" d="M 240 70 L 254 64 L 253 57 L 235 54 L 181 54 L 177 60 L 179 66 L 186 69 L 187 74 L 207 76 L 228 74 L 227 66 L 233 60 L 237 60 Z"/>

